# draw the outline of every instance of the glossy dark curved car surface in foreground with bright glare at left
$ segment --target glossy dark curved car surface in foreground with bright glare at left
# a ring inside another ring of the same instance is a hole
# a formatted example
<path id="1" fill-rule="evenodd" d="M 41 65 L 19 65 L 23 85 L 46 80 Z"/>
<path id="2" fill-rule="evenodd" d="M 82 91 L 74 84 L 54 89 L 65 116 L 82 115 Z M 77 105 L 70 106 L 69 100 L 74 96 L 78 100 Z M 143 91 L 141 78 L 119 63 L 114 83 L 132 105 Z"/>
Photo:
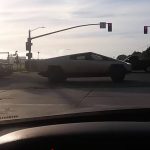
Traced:
<path id="1" fill-rule="evenodd" d="M 148 120 L 73 120 L 15 129 L 0 136 L 0 150 L 149 149 L 149 141 Z"/>

